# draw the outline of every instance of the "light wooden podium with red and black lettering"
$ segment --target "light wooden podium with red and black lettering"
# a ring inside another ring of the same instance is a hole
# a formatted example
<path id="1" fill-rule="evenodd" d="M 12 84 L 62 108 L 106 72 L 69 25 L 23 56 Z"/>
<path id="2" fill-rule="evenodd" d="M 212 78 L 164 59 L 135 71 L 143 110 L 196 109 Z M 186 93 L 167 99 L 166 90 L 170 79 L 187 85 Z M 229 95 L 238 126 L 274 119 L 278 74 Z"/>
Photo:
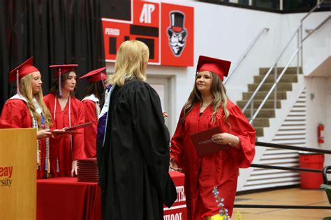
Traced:
<path id="1" fill-rule="evenodd" d="M 36 129 L 0 129 L 0 219 L 36 219 Z"/>

